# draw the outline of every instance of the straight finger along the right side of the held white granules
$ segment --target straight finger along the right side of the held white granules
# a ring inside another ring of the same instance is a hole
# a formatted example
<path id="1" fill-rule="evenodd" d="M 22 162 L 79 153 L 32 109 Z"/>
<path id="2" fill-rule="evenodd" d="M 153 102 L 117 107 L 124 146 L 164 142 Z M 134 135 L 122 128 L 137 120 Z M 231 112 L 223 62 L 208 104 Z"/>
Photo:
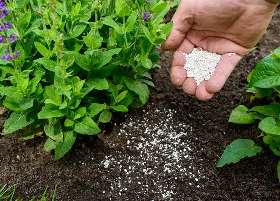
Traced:
<path id="1" fill-rule="evenodd" d="M 206 84 L 206 89 L 209 93 L 217 93 L 222 89 L 235 66 L 241 60 L 239 55 L 223 54 L 213 75 Z"/>

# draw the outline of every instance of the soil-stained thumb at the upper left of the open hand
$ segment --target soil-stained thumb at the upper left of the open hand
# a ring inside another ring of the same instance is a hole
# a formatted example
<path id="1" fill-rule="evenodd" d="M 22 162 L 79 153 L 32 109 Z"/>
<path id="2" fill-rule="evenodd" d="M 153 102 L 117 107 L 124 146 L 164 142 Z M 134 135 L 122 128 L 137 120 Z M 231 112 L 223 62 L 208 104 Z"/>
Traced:
<path id="1" fill-rule="evenodd" d="M 191 28 L 194 22 L 194 17 L 189 11 L 191 5 L 188 2 L 189 1 L 181 1 L 172 18 L 173 28 L 166 41 L 162 44 L 162 49 L 176 49 L 183 42 L 186 32 Z"/>

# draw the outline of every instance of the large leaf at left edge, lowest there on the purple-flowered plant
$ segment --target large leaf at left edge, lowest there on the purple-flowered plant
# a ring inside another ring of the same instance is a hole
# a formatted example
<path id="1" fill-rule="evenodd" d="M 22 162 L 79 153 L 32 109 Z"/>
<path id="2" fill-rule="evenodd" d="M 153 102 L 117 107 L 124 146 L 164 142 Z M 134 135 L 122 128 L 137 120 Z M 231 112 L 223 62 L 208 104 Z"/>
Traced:
<path id="1" fill-rule="evenodd" d="M 14 131 L 22 129 L 23 127 L 33 123 L 35 119 L 37 119 L 36 111 L 28 111 L 23 114 L 20 111 L 14 111 L 5 121 L 2 135 L 13 133 Z"/>

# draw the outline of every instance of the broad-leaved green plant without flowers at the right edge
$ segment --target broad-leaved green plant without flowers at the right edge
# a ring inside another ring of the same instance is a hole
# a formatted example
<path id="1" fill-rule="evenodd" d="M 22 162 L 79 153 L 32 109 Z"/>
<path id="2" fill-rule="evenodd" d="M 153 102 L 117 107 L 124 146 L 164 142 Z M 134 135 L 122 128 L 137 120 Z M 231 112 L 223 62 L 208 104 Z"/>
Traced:
<path id="1" fill-rule="evenodd" d="M 267 106 L 255 106 L 251 109 L 244 105 L 238 106 L 230 115 L 229 122 L 237 124 L 251 124 L 256 120 L 265 145 L 269 146 L 274 154 L 280 156 L 280 103 L 272 98 L 271 94 L 277 92 L 280 97 L 280 47 L 261 60 L 254 70 L 248 75 L 249 86 L 247 92 L 255 93 L 255 98 L 269 97 L 272 103 Z M 226 147 L 225 152 L 217 163 L 222 167 L 228 163 L 236 163 L 246 156 L 254 156 L 262 151 L 259 146 L 254 146 L 252 140 L 237 139 Z M 280 161 L 278 162 L 278 179 L 280 181 Z"/>

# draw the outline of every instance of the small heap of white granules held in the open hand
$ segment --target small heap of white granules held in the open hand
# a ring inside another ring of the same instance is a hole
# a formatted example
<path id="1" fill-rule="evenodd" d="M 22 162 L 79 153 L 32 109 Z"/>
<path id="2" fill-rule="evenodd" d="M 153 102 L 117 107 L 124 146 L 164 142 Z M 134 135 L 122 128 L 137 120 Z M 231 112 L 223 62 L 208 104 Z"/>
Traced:
<path id="1" fill-rule="evenodd" d="M 201 48 L 200 48 L 201 49 Z M 197 86 L 209 80 L 221 59 L 221 55 L 194 48 L 190 54 L 182 53 L 186 59 L 185 70 L 194 78 Z"/>

